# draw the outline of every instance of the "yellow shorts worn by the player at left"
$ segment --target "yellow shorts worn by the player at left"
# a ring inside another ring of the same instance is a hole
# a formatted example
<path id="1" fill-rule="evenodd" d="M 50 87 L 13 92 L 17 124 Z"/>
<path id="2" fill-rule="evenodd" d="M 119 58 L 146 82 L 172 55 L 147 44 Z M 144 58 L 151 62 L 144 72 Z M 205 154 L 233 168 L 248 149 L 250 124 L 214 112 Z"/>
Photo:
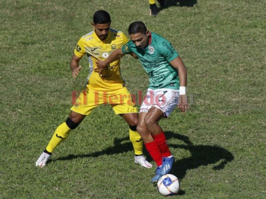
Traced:
<path id="1" fill-rule="evenodd" d="M 115 114 L 136 113 L 134 96 L 127 88 L 113 92 L 97 92 L 88 89 L 80 93 L 71 110 L 82 115 L 89 115 L 99 105 L 110 104 Z"/>

